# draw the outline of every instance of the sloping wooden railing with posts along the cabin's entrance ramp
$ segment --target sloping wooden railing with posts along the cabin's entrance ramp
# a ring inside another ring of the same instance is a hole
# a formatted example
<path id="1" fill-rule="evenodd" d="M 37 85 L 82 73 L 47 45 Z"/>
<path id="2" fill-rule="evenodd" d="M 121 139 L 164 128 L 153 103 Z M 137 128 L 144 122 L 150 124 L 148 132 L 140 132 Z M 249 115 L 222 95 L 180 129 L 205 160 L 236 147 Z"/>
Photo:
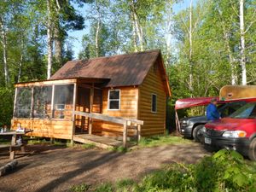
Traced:
<path id="1" fill-rule="evenodd" d="M 123 125 L 123 147 L 127 147 L 127 129 L 128 126 L 134 125 L 136 126 L 137 129 L 137 142 L 141 139 L 141 128 L 143 125 L 143 120 L 138 120 L 138 119 L 127 119 L 127 118 L 121 118 L 121 117 L 113 117 L 113 116 L 108 116 L 105 114 L 101 113 L 86 113 L 86 112 L 79 112 L 79 111 L 74 111 L 73 112 L 73 119 L 74 115 L 80 115 L 84 116 L 90 119 L 99 119 L 103 121 L 108 121 L 112 122 L 115 124 L 120 124 Z M 91 134 L 91 129 L 92 129 L 92 121 L 90 120 L 89 123 L 89 134 Z"/>

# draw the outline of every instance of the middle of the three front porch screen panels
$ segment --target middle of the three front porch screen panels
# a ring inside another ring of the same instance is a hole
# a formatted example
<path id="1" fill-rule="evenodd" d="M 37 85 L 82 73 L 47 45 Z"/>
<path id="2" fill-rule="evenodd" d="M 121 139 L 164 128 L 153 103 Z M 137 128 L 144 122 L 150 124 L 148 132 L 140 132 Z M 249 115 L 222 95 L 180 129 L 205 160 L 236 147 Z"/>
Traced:
<path id="1" fill-rule="evenodd" d="M 34 118 L 47 119 L 51 117 L 52 86 L 38 86 L 33 90 Z"/>

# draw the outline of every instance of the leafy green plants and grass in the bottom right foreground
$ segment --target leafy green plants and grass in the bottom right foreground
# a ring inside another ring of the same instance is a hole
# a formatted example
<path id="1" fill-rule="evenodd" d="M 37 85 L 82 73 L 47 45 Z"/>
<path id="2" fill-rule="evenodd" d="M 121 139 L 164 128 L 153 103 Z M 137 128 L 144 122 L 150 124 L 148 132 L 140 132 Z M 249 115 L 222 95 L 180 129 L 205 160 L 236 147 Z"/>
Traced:
<path id="1" fill-rule="evenodd" d="M 125 179 L 102 186 L 106 191 L 133 192 L 255 191 L 256 166 L 248 164 L 236 151 L 223 149 L 195 165 L 174 163 L 164 166 L 143 177 L 139 183 Z"/>

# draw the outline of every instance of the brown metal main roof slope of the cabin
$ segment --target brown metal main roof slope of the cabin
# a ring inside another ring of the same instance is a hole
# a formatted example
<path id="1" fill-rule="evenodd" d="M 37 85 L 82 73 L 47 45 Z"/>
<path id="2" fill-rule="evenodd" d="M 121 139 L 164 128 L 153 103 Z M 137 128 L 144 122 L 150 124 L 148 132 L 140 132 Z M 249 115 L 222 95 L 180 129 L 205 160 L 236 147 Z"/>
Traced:
<path id="1" fill-rule="evenodd" d="M 110 79 L 106 87 L 139 85 L 159 56 L 157 49 L 87 61 L 67 61 L 50 79 L 101 78 Z"/>

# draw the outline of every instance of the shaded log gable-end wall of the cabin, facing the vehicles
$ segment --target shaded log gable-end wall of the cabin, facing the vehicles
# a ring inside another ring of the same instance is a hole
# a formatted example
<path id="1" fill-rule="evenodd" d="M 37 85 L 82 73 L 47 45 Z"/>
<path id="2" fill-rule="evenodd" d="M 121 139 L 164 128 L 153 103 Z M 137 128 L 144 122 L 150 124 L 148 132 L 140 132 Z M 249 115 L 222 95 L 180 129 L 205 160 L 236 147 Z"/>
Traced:
<path id="1" fill-rule="evenodd" d="M 139 86 L 138 117 L 143 120 L 142 136 L 164 134 L 166 131 L 166 91 L 158 61 Z M 151 111 L 152 94 L 156 95 L 156 113 Z"/>

